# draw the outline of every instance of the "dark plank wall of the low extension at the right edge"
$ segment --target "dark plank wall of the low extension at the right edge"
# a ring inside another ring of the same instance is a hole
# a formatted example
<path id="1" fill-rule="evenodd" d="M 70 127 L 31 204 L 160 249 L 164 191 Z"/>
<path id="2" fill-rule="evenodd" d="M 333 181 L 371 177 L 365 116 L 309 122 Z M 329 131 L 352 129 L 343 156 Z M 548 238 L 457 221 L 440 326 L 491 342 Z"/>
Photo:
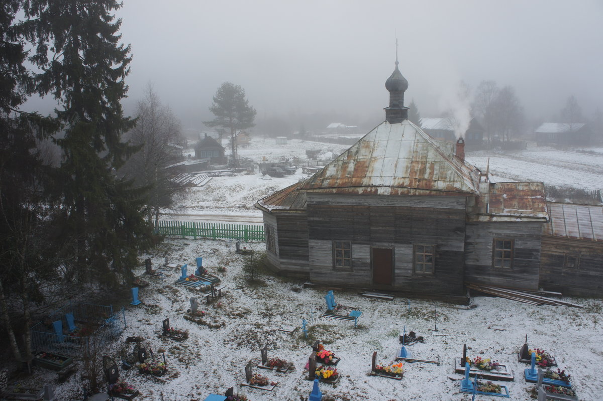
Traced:
<path id="1" fill-rule="evenodd" d="M 578 256 L 578 266 L 565 267 L 566 255 Z M 542 237 L 540 285 L 571 296 L 603 296 L 603 243 Z"/>

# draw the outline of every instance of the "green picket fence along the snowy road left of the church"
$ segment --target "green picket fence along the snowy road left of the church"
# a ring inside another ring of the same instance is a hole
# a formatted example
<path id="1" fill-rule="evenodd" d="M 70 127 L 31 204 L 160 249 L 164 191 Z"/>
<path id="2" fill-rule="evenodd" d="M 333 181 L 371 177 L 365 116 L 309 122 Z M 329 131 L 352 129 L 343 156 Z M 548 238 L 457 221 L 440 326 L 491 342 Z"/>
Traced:
<path id="1" fill-rule="evenodd" d="M 169 237 L 265 241 L 264 226 L 159 220 L 155 231 Z"/>

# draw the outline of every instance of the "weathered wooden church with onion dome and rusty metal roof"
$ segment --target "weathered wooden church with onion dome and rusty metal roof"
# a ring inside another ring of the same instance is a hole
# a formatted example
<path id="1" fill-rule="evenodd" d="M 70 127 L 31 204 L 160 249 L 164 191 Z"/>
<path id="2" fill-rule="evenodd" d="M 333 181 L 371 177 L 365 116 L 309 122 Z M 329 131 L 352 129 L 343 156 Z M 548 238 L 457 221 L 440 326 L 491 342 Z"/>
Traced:
<path id="1" fill-rule="evenodd" d="M 561 284 L 541 277 L 550 221 L 543 183 L 490 182 L 465 160 L 463 138 L 438 141 L 410 122 L 397 65 L 383 123 L 310 178 L 257 202 L 270 266 L 313 285 L 459 303 L 467 283 Z M 590 267 L 599 288 L 602 259 Z"/>

